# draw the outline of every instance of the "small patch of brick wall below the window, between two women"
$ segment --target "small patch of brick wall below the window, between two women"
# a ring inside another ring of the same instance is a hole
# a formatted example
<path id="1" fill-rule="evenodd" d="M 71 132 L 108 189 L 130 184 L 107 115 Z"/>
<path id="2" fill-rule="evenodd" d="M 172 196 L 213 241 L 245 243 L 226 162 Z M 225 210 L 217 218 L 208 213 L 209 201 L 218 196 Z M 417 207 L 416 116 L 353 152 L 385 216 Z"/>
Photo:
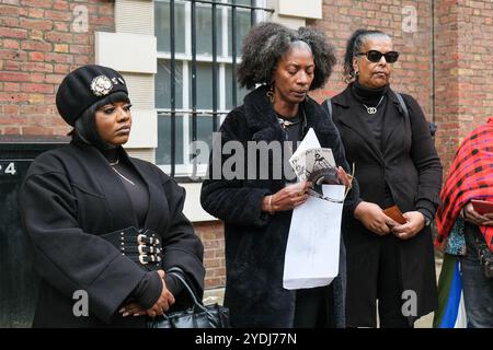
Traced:
<path id="1" fill-rule="evenodd" d="M 226 284 L 225 225 L 219 221 L 209 221 L 195 223 L 194 228 L 204 243 L 205 287 L 223 287 Z"/>

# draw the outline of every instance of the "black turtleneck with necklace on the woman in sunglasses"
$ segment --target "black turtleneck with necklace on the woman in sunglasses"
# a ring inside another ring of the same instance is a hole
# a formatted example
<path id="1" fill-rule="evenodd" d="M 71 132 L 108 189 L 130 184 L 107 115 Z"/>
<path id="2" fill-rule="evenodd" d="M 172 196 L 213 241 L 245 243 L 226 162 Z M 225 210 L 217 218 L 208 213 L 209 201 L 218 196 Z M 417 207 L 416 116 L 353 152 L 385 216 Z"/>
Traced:
<path id="1" fill-rule="evenodd" d="M 380 150 L 382 149 L 381 133 L 383 130 L 385 115 L 387 109 L 387 91 L 388 85 L 380 89 L 369 89 L 363 86 L 357 81 L 351 86 L 351 91 L 359 102 L 358 116 L 368 124 L 375 140 Z M 369 114 L 367 107 L 377 107 L 376 114 Z"/>

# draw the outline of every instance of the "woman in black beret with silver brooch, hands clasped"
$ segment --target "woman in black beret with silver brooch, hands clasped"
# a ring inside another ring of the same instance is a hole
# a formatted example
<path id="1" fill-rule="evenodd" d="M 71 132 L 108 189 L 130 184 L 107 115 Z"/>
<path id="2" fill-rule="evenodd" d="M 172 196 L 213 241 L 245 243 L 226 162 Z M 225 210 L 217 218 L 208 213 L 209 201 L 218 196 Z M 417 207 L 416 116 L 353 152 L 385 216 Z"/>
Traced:
<path id="1" fill-rule="evenodd" d="M 42 277 L 33 325 L 145 327 L 181 301 L 171 267 L 202 295 L 203 245 L 182 212 L 184 189 L 122 148 L 131 127 L 123 77 L 81 67 L 64 79 L 56 104 L 72 141 L 39 155 L 21 192 Z"/>

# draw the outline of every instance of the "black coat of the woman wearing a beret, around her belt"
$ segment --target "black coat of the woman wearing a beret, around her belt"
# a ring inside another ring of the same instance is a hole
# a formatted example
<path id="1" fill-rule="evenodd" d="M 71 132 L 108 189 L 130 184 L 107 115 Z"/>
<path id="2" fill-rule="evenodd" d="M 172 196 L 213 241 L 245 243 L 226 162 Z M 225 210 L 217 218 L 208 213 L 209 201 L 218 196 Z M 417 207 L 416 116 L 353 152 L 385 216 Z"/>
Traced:
<path id="1" fill-rule="evenodd" d="M 128 158 L 148 187 L 145 229 L 162 238 L 162 268 L 181 267 L 203 291 L 203 245 L 183 214 L 185 191 L 148 162 Z M 119 307 L 145 271 L 100 237 L 138 228 L 119 177 L 93 147 L 70 143 L 41 154 L 21 191 L 21 214 L 42 277 L 35 327 L 145 327 L 144 316 L 122 317 Z M 73 293 L 89 296 L 89 316 L 74 317 Z"/>

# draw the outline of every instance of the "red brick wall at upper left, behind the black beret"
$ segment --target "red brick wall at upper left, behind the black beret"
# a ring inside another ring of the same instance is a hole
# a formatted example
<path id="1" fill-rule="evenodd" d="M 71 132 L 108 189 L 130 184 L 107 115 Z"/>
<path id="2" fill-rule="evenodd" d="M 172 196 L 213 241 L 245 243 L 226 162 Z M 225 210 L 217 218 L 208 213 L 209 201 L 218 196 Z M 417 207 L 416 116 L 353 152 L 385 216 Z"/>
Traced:
<path id="1" fill-rule="evenodd" d="M 87 9 L 87 32 L 73 26 L 76 7 Z M 94 31 L 113 32 L 113 13 L 107 0 L 0 3 L 0 135 L 67 133 L 56 89 L 71 69 L 94 61 Z"/>

